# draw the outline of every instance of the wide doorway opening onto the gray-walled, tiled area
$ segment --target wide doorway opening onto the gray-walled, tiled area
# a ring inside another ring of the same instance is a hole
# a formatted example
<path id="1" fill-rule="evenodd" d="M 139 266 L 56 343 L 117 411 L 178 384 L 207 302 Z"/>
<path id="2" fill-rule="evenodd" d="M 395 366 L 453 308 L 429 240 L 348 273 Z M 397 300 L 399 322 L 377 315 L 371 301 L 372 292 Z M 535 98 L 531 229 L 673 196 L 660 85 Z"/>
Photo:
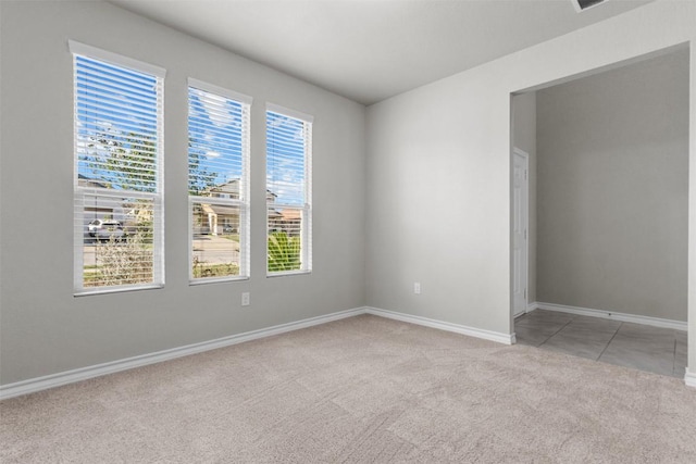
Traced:
<path id="1" fill-rule="evenodd" d="M 518 342 L 684 377 L 688 53 L 672 49 L 512 96 L 511 146 L 530 166 L 520 269 L 511 150 Z"/>

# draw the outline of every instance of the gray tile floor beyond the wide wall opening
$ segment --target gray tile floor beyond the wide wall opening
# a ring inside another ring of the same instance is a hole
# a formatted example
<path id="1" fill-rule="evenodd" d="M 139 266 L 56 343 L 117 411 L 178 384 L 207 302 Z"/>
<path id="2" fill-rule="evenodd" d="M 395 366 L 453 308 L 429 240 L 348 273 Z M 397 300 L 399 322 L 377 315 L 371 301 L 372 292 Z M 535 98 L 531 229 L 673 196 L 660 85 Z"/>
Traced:
<path id="1" fill-rule="evenodd" d="M 514 319 L 518 343 L 684 377 L 686 331 L 536 310 Z"/>

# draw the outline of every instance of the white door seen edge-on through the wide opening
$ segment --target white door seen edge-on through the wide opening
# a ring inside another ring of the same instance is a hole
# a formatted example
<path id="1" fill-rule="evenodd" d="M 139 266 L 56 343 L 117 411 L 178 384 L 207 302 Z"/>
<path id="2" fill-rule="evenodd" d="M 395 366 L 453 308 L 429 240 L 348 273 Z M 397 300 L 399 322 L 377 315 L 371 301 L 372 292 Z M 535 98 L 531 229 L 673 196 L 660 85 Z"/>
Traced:
<path id="1" fill-rule="evenodd" d="M 512 315 L 526 311 L 529 155 L 513 150 L 512 163 Z"/>

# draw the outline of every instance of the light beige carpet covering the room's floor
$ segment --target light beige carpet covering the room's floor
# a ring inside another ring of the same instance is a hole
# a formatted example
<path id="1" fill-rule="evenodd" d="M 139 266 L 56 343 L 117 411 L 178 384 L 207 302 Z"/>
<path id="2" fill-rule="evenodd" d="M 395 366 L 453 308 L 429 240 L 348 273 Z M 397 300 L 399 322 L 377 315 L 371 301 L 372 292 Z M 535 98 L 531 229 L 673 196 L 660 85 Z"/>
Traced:
<path id="1" fill-rule="evenodd" d="M 683 380 L 357 316 L 0 403 L 9 463 L 696 463 Z"/>

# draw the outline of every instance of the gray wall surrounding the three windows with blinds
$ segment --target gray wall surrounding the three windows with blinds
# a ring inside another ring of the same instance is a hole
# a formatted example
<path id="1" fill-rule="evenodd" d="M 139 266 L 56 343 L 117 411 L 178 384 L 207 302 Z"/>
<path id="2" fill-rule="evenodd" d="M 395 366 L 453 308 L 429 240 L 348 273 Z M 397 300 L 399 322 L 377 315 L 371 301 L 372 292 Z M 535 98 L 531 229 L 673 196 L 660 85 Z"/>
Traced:
<path id="1" fill-rule="evenodd" d="M 364 106 L 109 3 L 0 8 L 3 385 L 364 305 Z M 167 70 L 163 289 L 73 297 L 69 39 Z M 254 98 L 248 281 L 188 285 L 189 76 Z M 266 101 L 314 116 L 311 275 L 265 277 Z"/>

